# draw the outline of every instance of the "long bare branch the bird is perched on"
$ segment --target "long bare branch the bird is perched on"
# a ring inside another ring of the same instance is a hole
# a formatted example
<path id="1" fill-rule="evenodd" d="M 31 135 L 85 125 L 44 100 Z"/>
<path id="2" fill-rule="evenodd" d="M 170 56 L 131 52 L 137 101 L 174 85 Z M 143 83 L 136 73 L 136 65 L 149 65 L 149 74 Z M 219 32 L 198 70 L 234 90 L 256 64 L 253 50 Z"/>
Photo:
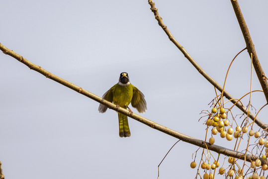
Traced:
<path id="1" fill-rule="evenodd" d="M 107 101 L 107 100 L 104 100 L 102 99 L 101 97 L 87 91 L 86 89 L 82 89 L 81 87 L 78 87 L 60 77 L 57 77 L 56 75 L 53 75 L 52 73 L 42 69 L 40 66 L 37 66 L 35 64 L 33 64 L 32 62 L 28 61 L 27 59 L 23 58 L 22 56 L 16 54 L 15 52 L 13 52 L 12 50 L 9 50 L 7 49 L 6 47 L 4 47 L 1 43 L 0 43 L 0 50 L 6 54 L 6 55 L 9 55 L 15 59 L 17 59 L 19 62 L 23 63 L 24 65 L 28 66 L 30 69 L 44 75 L 45 77 L 51 79 L 51 80 L 54 80 L 55 82 L 58 82 L 70 89 L 73 89 L 101 104 L 104 104 L 106 105 L 107 107 L 117 111 L 117 112 L 120 112 L 122 114 L 125 114 L 145 125 L 148 125 L 149 127 L 153 128 L 153 129 L 156 129 L 156 130 L 159 130 L 161 132 L 164 132 L 168 135 L 171 135 L 177 139 L 180 139 L 184 142 L 187 142 L 187 143 L 190 143 L 190 144 L 193 144 L 193 145 L 196 145 L 198 147 L 202 147 L 202 148 L 207 148 L 211 151 L 214 151 L 214 152 L 217 152 L 217 153 L 220 153 L 220 154 L 223 154 L 223 155 L 226 155 L 226 156 L 230 156 L 230 157 L 235 157 L 235 158 L 238 158 L 238 159 L 241 159 L 241 160 L 244 160 L 245 159 L 245 154 L 242 153 L 242 152 L 238 152 L 238 151 L 234 151 L 234 150 L 230 150 L 230 149 L 227 149 L 227 148 L 224 148 L 224 147 L 221 147 L 221 146 L 218 146 L 218 145 L 210 145 L 208 142 L 205 142 L 203 140 L 199 140 L 199 139 L 195 139 L 193 137 L 190 137 L 190 136 L 187 136 L 187 135 L 184 135 L 184 134 L 181 134 L 177 131 L 174 131 L 172 129 L 169 129 L 163 125 L 160 125 L 158 123 L 155 123 L 149 119 L 146 119 L 138 114 L 135 114 L 135 113 L 130 113 L 129 110 L 127 109 L 124 109 L 122 107 L 119 107 L 117 109 L 116 105 Z M 251 162 L 252 160 L 255 160 L 256 157 L 253 156 L 253 155 L 246 155 L 246 160 L 248 162 Z M 261 159 L 262 160 L 262 159 Z M 262 160 L 263 162 L 263 160 Z"/>

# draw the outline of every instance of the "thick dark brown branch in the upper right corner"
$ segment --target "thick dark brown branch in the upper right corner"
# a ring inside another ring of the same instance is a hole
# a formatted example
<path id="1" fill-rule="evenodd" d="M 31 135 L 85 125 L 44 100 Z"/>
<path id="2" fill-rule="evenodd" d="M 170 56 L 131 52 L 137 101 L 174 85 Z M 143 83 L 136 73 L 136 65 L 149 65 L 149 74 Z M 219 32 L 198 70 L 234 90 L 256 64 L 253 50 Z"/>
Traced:
<path id="1" fill-rule="evenodd" d="M 233 5 L 233 8 L 234 8 L 238 23 L 240 25 L 242 34 L 244 36 L 244 39 L 245 39 L 247 49 L 248 49 L 248 53 L 249 53 L 250 57 L 251 57 L 251 53 L 253 54 L 252 63 L 253 63 L 254 69 L 256 71 L 256 74 L 258 76 L 258 79 L 259 79 L 259 81 L 261 83 L 261 86 L 263 88 L 266 100 L 268 102 L 268 82 L 267 82 L 267 79 L 265 77 L 265 73 L 264 73 L 264 70 L 263 70 L 263 68 L 261 66 L 261 63 L 260 63 L 260 61 L 258 59 L 257 53 L 255 51 L 255 47 L 254 47 L 253 41 L 251 39 L 248 26 L 247 26 L 246 21 L 245 21 L 245 19 L 243 17 L 243 14 L 242 14 L 242 11 L 241 11 L 241 9 L 239 7 L 238 1 L 237 0 L 231 0 L 231 3 Z"/>

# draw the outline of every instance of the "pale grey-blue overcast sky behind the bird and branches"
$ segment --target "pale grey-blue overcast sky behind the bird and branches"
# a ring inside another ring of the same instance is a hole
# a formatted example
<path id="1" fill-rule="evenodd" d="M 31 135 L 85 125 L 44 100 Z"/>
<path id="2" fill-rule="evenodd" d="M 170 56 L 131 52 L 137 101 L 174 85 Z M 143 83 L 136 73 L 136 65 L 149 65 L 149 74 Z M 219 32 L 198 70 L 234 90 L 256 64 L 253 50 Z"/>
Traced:
<path id="1" fill-rule="evenodd" d="M 173 36 L 223 86 L 230 62 L 246 46 L 231 2 L 154 2 Z M 239 3 L 268 72 L 268 1 Z M 1 0 L 0 16 L 0 43 L 7 48 L 99 96 L 127 72 L 145 94 L 148 110 L 142 116 L 204 140 L 205 119 L 198 122 L 199 113 L 211 110 L 214 88 L 168 39 L 147 0 Z M 249 92 L 249 80 L 244 51 L 226 89 L 240 98 Z M 3 53 L 0 87 L 0 161 L 6 179 L 156 179 L 157 166 L 178 141 L 131 118 L 131 137 L 120 138 L 115 111 L 99 113 L 99 103 Z M 261 89 L 255 73 L 253 89 Z M 266 103 L 260 92 L 252 102 L 257 110 Z M 259 117 L 268 123 L 267 108 Z M 233 149 L 234 141 L 225 141 L 217 136 L 215 144 Z M 189 164 L 197 149 L 179 142 L 162 163 L 160 179 L 194 179 L 196 169 Z M 201 150 L 196 161 L 200 156 Z"/>

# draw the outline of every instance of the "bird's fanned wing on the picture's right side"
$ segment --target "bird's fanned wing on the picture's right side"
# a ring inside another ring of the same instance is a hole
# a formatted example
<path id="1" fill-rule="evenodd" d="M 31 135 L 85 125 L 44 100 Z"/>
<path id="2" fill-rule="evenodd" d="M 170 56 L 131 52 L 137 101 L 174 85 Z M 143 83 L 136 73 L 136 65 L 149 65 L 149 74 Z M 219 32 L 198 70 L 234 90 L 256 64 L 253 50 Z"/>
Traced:
<path id="1" fill-rule="evenodd" d="M 134 86 L 131 105 L 135 107 L 140 113 L 144 113 L 147 110 L 144 94 Z"/>

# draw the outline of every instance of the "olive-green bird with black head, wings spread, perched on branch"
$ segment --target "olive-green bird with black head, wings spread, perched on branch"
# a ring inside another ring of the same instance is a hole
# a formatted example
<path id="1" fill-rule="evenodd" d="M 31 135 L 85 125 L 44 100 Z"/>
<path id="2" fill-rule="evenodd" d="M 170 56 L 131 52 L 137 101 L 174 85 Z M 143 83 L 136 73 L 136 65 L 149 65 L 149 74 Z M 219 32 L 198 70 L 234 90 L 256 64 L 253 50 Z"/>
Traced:
<path id="1" fill-rule="evenodd" d="M 144 98 L 144 94 L 136 87 L 134 87 L 130 81 L 128 74 L 122 72 L 119 77 L 119 81 L 102 96 L 103 99 L 113 102 L 116 104 L 117 108 L 123 107 L 129 109 L 132 114 L 131 109 L 128 105 L 131 103 L 140 113 L 144 113 L 147 110 L 147 104 Z M 107 106 L 99 104 L 98 111 L 103 113 L 107 110 Z M 127 116 L 118 113 L 119 119 L 119 136 L 120 137 L 130 137 L 130 130 L 128 126 Z"/>

